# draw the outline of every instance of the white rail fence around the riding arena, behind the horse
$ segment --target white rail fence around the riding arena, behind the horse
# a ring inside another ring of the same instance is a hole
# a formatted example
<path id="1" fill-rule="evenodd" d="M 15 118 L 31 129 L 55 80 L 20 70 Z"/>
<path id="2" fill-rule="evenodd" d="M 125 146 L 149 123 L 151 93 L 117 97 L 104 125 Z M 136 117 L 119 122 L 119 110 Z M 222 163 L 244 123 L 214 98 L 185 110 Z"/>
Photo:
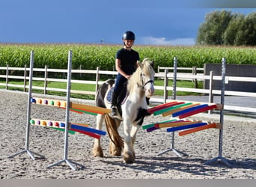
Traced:
<path id="1" fill-rule="evenodd" d="M 161 67 L 160 67 L 161 69 Z M 171 68 L 168 68 L 170 70 L 173 70 Z M 166 102 L 166 99 L 168 99 L 168 91 L 173 91 L 173 87 L 168 85 L 168 79 L 174 78 L 174 73 L 168 73 L 167 67 L 163 67 L 164 72 L 159 72 L 155 74 L 155 78 L 157 79 L 164 79 L 165 84 L 163 86 L 156 86 L 156 90 L 162 90 L 164 91 L 164 96 L 162 98 L 159 98 L 159 96 L 153 96 L 153 98 L 150 99 L 151 102 Z M 179 69 L 178 69 L 179 70 Z M 180 68 L 182 70 L 182 68 Z M 203 73 L 195 73 L 195 71 L 192 68 L 186 68 L 186 70 L 192 70 L 192 73 L 177 73 L 177 80 L 210 80 L 210 82 L 213 82 L 213 80 L 221 80 L 221 76 L 204 76 Z M 201 70 L 201 69 L 199 69 Z M 19 72 L 19 76 L 12 76 L 10 75 L 10 72 Z M 12 88 L 22 88 L 23 91 L 27 91 L 28 89 L 28 79 L 27 76 L 29 72 L 29 68 L 27 67 L 0 67 L 0 86 L 4 86 L 6 89 L 9 87 Z M 48 73 L 67 73 L 67 70 L 64 69 L 48 69 L 46 66 L 45 68 L 34 68 L 34 72 L 40 72 L 44 75 L 44 77 L 33 77 L 33 81 L 41 81 L 44 82 L 43 87 L 38 87 L 33 85 L 34 90 L 41 90 L 44 94 L 47 93 L 47 91 L 58 91 L 58 92 L 66 92 L 66 89 L 61 88 L 49 88 L 48 82 L 67 82 L 67 79 L 52 79 L 48 77 Z M 89 80 L 79 80 L 79 79 L 72 79 L 71 83 L 79 83 L 79 84 L 89 84 L 89 85 L 95 85 L 94 91 L 76 91 L 71 90 L 71 93 L 82 93 L 82 94 L 90 94 L 95 95 L 97 93 L 97 90 L 100 85 L 103 84 L 103 81 L 100 81 L 100 75 L 109 75 L 109 76 L 115 76 L 117 72 L 115 71 L 105 71 L 100 70 L 99 67 L 97 67 L 97 70 L 72 70 L 72 73 L 78 73 L 79 75 L 82 74 L 93 74 L 95 80 L 89 81 Z M 22 75 L 22 76 L 20 76 Z M 13 85 L 9 83 L 9 79 L 19 79 L 23 80 L 23 85 Z M 237 82 L 256 82 L 255 77 L 236 77 L 236 76 L 226 76 L 225 83 L 228 84 L 229 81 L 237 81 Z M 86 88 L 85 88 L 86 89 Z M 183 91 L 183 92 L 192 92 L 192 93 L 204 93 L 209 94 L 209 97 L 213 97 L 213 95 L 220 95 L 220 90 L 212 90 L 212 89 L 201 89 L 201 88 L 179 88 L 176 87 L 176 91 Z M 256 97 L 256 93 L 252 92 L 240 92 L 240 91 L 225 91 L 225 96 L 250 96 L 250 97 Z M 209 98 L 209 101 L 213 100 L 213 98 Z M 233 110 L 233 111 L 245 111 L 245 112 L 252 112 L 256 113 L 256 108 L 252 107 L 241 107 L 241 106 L 234 106 L 234 105 L 225 105 L 225 109 L 227 110 Z"/>

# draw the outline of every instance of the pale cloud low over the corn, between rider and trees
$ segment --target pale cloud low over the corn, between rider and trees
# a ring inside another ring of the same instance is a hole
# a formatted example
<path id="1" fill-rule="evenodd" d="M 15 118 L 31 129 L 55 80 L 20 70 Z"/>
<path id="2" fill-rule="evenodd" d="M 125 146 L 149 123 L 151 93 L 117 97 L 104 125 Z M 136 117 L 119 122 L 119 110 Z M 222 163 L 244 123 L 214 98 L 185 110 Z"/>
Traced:
<path id="1" fill-rule="evenodd" d="M 156 46 L 192 46 L 195 45 L 195 38 L 184 37 L 166 40 L 165 37 L 141 37 L 141 44 Z"/>

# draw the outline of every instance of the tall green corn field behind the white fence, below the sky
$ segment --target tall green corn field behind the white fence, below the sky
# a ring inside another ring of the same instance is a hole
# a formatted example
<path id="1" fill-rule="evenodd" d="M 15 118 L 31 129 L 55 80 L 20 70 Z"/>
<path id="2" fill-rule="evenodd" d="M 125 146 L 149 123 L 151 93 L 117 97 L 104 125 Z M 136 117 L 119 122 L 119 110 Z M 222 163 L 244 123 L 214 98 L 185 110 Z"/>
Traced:
<path id="1" fill-rule="evenodd" d="M 113 70 L 115 53 L 121 45 L 87 44 L 0 44 L 0 67 L 29 65 L 30 51 L 34 51 L 34 67 L 67 68 L 68 50 L 73 51 L 73 69 Z M 177 57 L 178 67 L 204 67 L 219 64 L 256 64 L 256 48 L 245 46 L 134 46 L 143 58 L 151 58 L 155 67 L 172 67 Z"/>

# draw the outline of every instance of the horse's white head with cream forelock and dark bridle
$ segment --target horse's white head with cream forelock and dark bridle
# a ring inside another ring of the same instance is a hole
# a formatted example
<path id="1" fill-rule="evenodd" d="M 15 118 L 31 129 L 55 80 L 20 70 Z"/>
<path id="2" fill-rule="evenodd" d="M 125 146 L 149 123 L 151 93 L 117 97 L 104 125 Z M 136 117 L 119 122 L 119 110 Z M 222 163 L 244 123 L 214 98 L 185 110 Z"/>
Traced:
<path id="1" fill-rule="evenodd" d="M 141 68 L 141 86 L 144 88 L 145 95 L 149 99 L 155 92 L 153 88 L 153 79 L 155 75 L 155 71 L 153 70 L 153 61 L 149 58 L 144 58 L 144 60 L 139 63 L 139 66 Z"/>

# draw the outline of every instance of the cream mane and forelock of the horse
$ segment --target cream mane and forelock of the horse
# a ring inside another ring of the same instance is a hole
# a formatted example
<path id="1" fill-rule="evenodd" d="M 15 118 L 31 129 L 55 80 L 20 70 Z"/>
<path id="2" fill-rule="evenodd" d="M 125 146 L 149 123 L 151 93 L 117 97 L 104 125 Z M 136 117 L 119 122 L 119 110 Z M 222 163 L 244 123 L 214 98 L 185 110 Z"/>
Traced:
<path id="1" fill-rule="evenodd" d="M 128 91 L 131 91 L 134 85 L 137 85 L 140 83 L 141 69 L 143 70 L 143 73 L 145 74 L 145 76 L 150 76 L 152 74 L 152 71 L 154 73 L 153 61 L 151 61 L 149 58 L 144 58 L 141 64 L 139 64 L 137 70 L 135 71 L 135 73 L 132 74 L 132 76 L 129 79 L 129 83 L 127 86 Z"/>

